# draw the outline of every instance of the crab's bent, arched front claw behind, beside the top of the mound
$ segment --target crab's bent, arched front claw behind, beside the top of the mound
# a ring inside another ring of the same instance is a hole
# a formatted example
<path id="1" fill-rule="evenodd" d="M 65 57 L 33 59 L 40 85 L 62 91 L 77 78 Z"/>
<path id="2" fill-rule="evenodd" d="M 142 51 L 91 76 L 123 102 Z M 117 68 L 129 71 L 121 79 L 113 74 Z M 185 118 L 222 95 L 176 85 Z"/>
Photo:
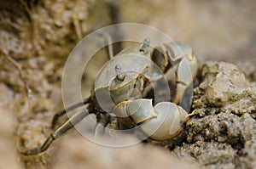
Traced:
<path id="1" fill-rule="evenodd" d="M 155 48 L 151 59 L 164 73 L 174 67 L 177 87 L 172 102 L 180 103 L 185 91 L 193 84 L 199 69 L 199 61 L 193 49 L 183 42 L 169 42 Z"/>

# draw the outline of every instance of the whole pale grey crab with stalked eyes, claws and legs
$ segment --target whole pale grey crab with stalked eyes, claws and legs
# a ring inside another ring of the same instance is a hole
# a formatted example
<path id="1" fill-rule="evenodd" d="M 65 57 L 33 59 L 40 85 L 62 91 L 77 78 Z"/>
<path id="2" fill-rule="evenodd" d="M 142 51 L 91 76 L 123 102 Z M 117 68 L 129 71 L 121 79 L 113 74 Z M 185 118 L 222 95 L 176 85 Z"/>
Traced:
<path id="1" fill-rule="evenodd" d="M 112 50 L 112 47 L 108 49 Z M 95 136 L 104 134 L 106 127 L 114 131 L 139 126 L 148 138 L 161 141 L 174 138 L 182 131 L 189 114 L 177 104 L 193 84 L 199 69 L 192 48 L 183 42 L 169 42 L 152 48 L 149 38 L 145 38 L 142 43 L 125 48 L 114 57 L 111 50 L 108 50 L 110 61 L 96 77 L 90 98 L 56 113 L 52 127 L 55 127 L 61 115 L 80 106 L 85 108 L 87 105 L 85 109 L 88 113 L 81 111 L 71 116 L 50 134 L 43 145 L 21 154 L 37 155 L 44 152 L 56 138 L 89 114 L 96 115 Z M 164 73 L 172 67 L 176 70 L 177 83 L 172 102 L 168 98 L 169 91 L 161 90 L 161 87 L 160 92 L 155 93 L 154 100 L 145 98 L 143 93 L 146 93 L 149 84 L 156 87 L 160 82 L 168 87 L 168 83 L 163 81 Z"/>

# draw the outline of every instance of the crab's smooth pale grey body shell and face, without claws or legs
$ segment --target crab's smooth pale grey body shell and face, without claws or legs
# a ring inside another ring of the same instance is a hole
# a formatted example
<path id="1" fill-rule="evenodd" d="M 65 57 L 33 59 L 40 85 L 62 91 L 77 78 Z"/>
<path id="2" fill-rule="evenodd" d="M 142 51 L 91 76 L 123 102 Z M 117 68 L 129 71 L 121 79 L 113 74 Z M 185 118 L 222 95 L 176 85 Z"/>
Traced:
<path id="1" fill-rule="evenodd" d="M 139 48 L 139 44 L 125 48 L 100 70 L 94 84 L 94 93 L 102 110 L 109 112 L 115 104 L 139 98 L 135 89 L 143 92 L 145 79 L 155 82 L 163 76 L 161 70 L 150 59 L 150 49 L 141 53 Z M 115 81 L 116 65 L 120 65 L 122 73 L 125 74 L 123 82 Z"/>

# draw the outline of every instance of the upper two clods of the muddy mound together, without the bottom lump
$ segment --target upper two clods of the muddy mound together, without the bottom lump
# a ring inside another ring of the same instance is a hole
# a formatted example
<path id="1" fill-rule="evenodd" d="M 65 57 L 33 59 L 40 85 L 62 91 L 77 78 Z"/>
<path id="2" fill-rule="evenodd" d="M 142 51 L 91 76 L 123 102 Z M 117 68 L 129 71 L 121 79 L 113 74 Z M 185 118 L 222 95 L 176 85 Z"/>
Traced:
<path id="1" fill-rule="evenodd" d="M 256 129 L 255 84 L 236 65 L 224 62 L 207 62 L 202 77 L 195 88 L 195 116 L 186 124 L 187 141 L 217 141 L 241 149 Z"/>

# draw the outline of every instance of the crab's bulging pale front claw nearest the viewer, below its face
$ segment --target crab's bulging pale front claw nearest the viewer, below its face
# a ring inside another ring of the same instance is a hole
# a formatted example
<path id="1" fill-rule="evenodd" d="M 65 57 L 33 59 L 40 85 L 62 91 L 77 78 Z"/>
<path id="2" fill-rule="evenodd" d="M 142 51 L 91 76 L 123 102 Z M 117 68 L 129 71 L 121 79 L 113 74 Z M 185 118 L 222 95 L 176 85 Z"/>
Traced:
<path id="1" fill-rule="evenodd" d="M 117 116 L 130 116 L 141 130 L 151 139 L 166 140 L 182 131 L 189 115 L 182 107 L 171 102 L 152 105 L 151 99 L 128 100 L 114 108 Z"/>

